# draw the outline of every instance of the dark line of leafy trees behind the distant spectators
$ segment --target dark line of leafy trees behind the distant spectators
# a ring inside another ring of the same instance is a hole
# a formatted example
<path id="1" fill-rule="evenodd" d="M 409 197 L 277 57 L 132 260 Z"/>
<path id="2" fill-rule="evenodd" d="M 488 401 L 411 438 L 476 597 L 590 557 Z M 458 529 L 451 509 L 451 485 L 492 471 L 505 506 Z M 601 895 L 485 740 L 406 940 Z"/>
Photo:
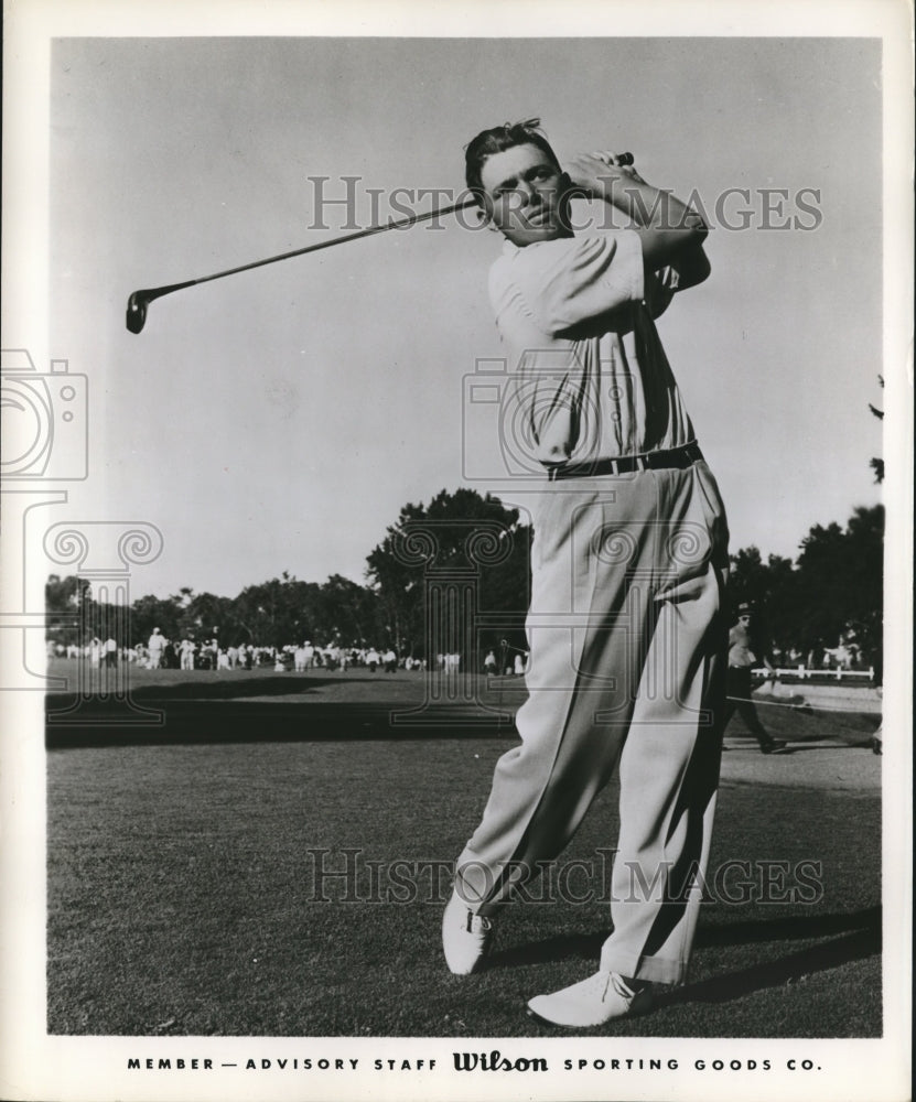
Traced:
<path id="1" fill-rule="evenodd" d="M 437 603 L 470 599 L 485 614 L 476 637 L 481 655 L 504 640 L 524 649 L 532 536 L 518 511 L 492 495 L 442 490 L 428 505 L 401 508 L 367 558 L 365 584 L 340 574 L 304 582 L 284 571 L 235 597 L 182 587 L 164 598 L 139 597 L 129 616 L 117 616 L 95 603 L 87 580 L 53 574 L 45 586 L 47 634 L 55 642 L 84 644 L 91 625 L 105 623 L 118 625 L 122 647 L 146 641 L 158 627 L 171 639 L 216 638 L 225 647 L 309 639 L 432 658 L 427 650 L 435 649 L 430 617 Z M 756 547 L 743 548 L 732 555 L 733 606 L 756 606 L 777 652 L 821 655 L 853 642 L 863 665 L 880 668 L 883 541 L 884 508 L 877 505 L 855 509 L 845 527 L 812 527 L 794 561 L 764 560 Z"/>

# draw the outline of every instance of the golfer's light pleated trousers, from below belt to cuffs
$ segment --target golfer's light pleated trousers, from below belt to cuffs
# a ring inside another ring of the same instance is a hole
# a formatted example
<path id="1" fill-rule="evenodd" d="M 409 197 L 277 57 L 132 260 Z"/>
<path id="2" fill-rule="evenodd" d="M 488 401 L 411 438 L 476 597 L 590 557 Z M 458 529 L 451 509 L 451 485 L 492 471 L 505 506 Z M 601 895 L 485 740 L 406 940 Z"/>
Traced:
<path id="1" fill-rule="evenodd" d="M 456 886 L 493 915 L 564 849 L 619 763 L 601 966 L 681 983 L 722 741 L 728 528 L 704 463 L 548 484 L 534 514 L 529 696 Z"/>

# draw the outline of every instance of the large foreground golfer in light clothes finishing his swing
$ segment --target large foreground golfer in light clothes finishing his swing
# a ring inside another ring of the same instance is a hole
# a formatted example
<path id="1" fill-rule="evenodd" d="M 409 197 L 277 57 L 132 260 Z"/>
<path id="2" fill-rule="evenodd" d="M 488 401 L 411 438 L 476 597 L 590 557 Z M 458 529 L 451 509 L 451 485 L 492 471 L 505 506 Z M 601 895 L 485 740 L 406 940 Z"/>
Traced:
<path id="1" fill-rule="evenodd" d="M 457 858 L 443 948 L 452 972 L 481 965 L 514 888 L 563 850 L 619 765 L 613 933 L 593 975 L 528 1004 L 585 1028 L 685 980 L 709 855 L 728 531 L 654 321 L 708 276 L 707 229 L 614 154 L 561 168 L 538 120 L 474 138 L 466 181 L 505 238 L 491 301 L 543 483 L 521 742 Z M 583 194 L 612 228 L 573 231 Z"/>

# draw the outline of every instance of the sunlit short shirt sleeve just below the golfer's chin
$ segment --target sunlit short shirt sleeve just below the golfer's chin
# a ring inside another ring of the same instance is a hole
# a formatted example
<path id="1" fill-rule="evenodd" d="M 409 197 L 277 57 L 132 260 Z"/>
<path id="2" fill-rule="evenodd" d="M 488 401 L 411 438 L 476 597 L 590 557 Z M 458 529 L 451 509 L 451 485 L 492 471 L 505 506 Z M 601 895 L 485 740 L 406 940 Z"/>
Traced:
<path id="1" fill-rule="evenodd" d="M 633 230 L 520 249 L 516 278 L 534 321 L 559 336 L 644 295 L 643 244 Z"/>

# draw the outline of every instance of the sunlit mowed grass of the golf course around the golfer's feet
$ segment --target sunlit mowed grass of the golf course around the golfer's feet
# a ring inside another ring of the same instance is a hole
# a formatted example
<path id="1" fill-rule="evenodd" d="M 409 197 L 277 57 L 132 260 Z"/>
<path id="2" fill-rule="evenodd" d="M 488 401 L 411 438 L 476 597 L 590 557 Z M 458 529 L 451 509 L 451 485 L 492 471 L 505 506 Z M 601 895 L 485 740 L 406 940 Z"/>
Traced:
<path id="1" fill-rule="evenodd" d="M 105 745 L 74 737 L 67 746 L 64 730 L 51 741 L 51 1033 L 550 1033 L 525 1003 L 593 971 L 610 932 L 602 851 L 616 836 L 616 786 L 563 857 L 580 863 L 567 872 L 581 901 L 557 892 L 545 900 L 550 893 L 532 887 L 531 900 L 504 914 L 489 966 L 452 976 L 439 937 L 448 863 L 476 825 L 494 764 L 514 738 L 450 737 L 444 721 L 439 735 L 378 738 L 365 719 L 369 737 L 354 737 L 351 723 L 341 728 L 349 736 L 335 738 L 335 702 L 358 701 L 365 716 L 375 699 L 384 726 L 387 705 L 378 702 L 419 699 L 405 674 L 353 672 L 347 689 L 325 689 L 316 676 L 299 688 L 291 676 L 260 687 L 273 701 L 283 685 L 293 696 L 308 689 L 299 704 L 282 695 L 300 716 L 298 738 L 288 722 L 271 737 L 265 705 L 247 741 L 238 725 L 228 741 L 211 730 L 194 742 L 181 728 L 182 741 L 168 722 L 171 738 L 112 730 Z M 143 703 L 171 716 L 175 700 L 192 695 L 200 719 L 231 706 L 225 694 L 208 700 L 207 684 L 241 680 L 213 676 L 187 689 L 186 677 L 151 678 Z M 326 709 L 315 709 L 322 701 Z M 711 869 L 746 867 L 728 882 L 734 896 L 743 880 L 744 898 L 729 903 L 720 893 L 704 904 L 687 986 L 654 1015 L 604 1033 L 881 1035 L 881 759 L 865 745 L 876 720 L 789 709 L 765 720 L 798 741 L 795 754 L 763 757 L 735 720 L 723 757 Z M 811 863 L 822 889 L 793 899 L 782 888 L 796 884 L 799 867 L 810 879 Z M 322 879 L 322 867 L 349 872 Z M 758 898 L 766 875 L 776 877 L 775 901 Z"/>

